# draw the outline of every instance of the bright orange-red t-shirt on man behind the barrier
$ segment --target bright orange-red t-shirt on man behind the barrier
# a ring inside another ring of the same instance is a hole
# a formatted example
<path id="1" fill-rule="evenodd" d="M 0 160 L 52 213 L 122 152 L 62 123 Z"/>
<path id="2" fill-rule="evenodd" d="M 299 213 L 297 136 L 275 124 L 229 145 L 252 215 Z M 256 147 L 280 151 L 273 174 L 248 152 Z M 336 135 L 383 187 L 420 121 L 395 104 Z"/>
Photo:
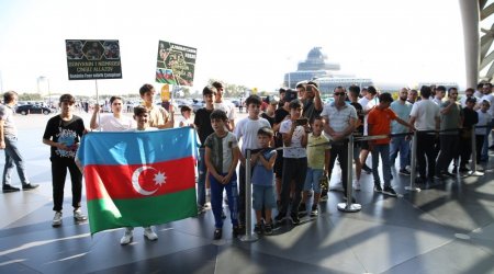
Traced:
<path id="1" fill-rule="evenodd" d="M 391 121 L 393 119 L 396 119 L 396 114 L 391 109 L 372 109 L 372 111 L 369 112 L 369 116 L 367 117 L 367 123 L 372 126 L 369 127 L 369 136 L 391 134 Z M 390 144 L 390 138 L 377 139 L 373 140 L 373 144 Z"/>

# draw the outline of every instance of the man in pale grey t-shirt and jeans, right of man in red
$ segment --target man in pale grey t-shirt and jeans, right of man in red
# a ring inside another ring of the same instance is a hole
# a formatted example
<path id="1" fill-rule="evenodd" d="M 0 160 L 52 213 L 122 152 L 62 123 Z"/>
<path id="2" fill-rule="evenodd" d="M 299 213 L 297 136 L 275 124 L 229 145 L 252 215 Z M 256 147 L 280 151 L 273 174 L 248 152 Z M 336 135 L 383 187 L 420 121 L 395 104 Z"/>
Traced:
<path id="1" fill-rule="evenodd" d="M 391 103 L 390 109 L 403 121 L 409 119 L 409 113 L 412 112 L 412 104 L 406 101 L 408 98 L 408 89 L 402 88 L 400 90 L 398 100 Z M 405 134 L 408 133 L 408 128 L 400 125 L 396 121 L 391 124 L 392 134 Z M 409 175 L 409 171 L 406 170 L 406 165 L 409 164 L 409 136 L 394 136 L 391 138 L 391 151 L 390 162 L 391 167 L 394 167 L 394 161 L 400 152 L 400 174 Z"/>

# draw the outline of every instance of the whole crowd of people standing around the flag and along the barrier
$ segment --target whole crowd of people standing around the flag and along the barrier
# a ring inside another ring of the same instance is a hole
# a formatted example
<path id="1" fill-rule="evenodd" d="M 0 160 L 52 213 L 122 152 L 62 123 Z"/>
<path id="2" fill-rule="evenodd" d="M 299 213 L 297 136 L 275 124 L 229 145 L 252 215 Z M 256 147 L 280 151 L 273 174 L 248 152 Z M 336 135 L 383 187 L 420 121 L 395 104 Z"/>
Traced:
<path id="1" fill-rule="evenodd" d="M 255 231 L 270 235 L 273 227 L 284 219 L 297 225 L 301 215 L 316 217 L 319 202 L 327 199 L 328 189 L 343 191 L 344 199 L 351 197 L 355 202 L 347 185 L 360 191 L 362 171 L 372 175 L 374 192 L 397 196 L 392 184 L 392 169 L 400 153 L 397 173 L 411 174 L 411 138 L 414 132 L 417 137 L 418 184 L 442 181 L 456 176 L 457 172 L 467 172 L 470 160 L 487 161 L 489 149 L 494 149 L 494 145 L 489 146 L 489 134 L 494 127 L 492 89 L 491 83 L 480 83 L 476 90 L 467 89 L 464 96 L 458 100 L 457 88 L 424 85 L 419 93 L 403 88 L 394 100 L 392 94 L 379 93 L 374 87 L 337 87 L 333 91 L 334 100 L 324 104 L 317 84 L 310 81 L 297 84 L 296 90 L 280 89 L 280 100 L 272 96 L 263 102 L 258 95 L 248 96 L 245 100 L 247 117 L 236 121 L 235 106 L 223 100 L 223 84 L 214 82 L 203 89 L 205 106 L 197 111 L 193 121 L 191 109 L 183 106 L 176 123 L 172 112 L 154 102 L 154 87 L 144 84 L 139 90 L 144 103 L 134 109 L 133 118 L 122 115 L 124 101 L 113 96 L 110 100 L 112 113 L 100 114 L 100 105 L 94 105 L 90 129 L 156 130 L 175 125 L 195 128 L 201 144 L 198 213 L 209 209 L 206 202 L 210 193 L 215 226 L 213 238 L 221 239 L 223 236 L 223 220 L 226 218 L 224 192 L 233 233 L 245 233 L 245 193 L 250 184 L 256 213 Z M 36 189 L 38 185 L 30 182 L 25 162 L 16 147 L 12 107 L 18 94 L 9 91 L 3 98 L 4 104 L 0 105 L 0 149 L 5 152 L 3 193 L 20 191 L 10 183 L 14 165 L 22 189 Z M 87 219 L 80 209 L 82 172 L 76 159 L 80 138 L 87 129 L 82 118 L 74 114 L 75 103 L 72 95 L 61 95 L 60 113 L 48 121 L 43 135 L 43 142 L 50 147 L 54 227 L 63 221 L 67 170 L 72 184 L 74 218 L 77 221 Z M 261 107 L 266 111 L 261 112 Z M 101 115 L 99 119 L 98 115 Z M 476 159 L 470 159 L 472 130 L 475 130 Z M 353 155 L 349 156 L 350 135 L 383 137 L 353 142 Z M 369 153 L 372 158 L 370 167 L 367 164 Z M 356 179 L 350 183 L 347 182 L 347 172 L 353 167 L 348 167 L 348 157 L 353 160 L 356 172 Z M 248 160 L 250 164 L 247 164 Z M 336 174 L 336 162 L 341 169 L 341 176 L 335 180 L 339 183 L 328 186 L 332 175 Z M 248 170 L 251 182 L 246 182 L 247 167 L 251 167 Z M 277 209 L 276 216 L 272 215 L 273 209 Z M 133 230 L 125 228 L 121 244 L 132 242 Z M 153 227 L 145 227 L 144 236 L 148 240 L 158 238 Z"/>

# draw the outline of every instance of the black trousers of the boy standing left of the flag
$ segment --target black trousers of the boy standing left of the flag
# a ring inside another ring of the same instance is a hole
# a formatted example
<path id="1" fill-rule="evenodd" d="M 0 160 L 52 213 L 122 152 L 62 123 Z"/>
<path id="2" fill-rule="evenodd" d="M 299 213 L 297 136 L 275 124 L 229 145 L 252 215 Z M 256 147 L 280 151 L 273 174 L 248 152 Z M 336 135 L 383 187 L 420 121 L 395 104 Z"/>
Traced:
<path id="1" fill-rule="evenodd" d="M 53 210 L 61 212 L 64 203 L 65 179 L 67 178 L 67 169 L 70 172 L 72 183 L 72 207 L 80 207 L 82 197 L 82 173 L 80 173 L 74 158 L 50 159 L 52 160 L 52 183 L 53 183 Z"/>

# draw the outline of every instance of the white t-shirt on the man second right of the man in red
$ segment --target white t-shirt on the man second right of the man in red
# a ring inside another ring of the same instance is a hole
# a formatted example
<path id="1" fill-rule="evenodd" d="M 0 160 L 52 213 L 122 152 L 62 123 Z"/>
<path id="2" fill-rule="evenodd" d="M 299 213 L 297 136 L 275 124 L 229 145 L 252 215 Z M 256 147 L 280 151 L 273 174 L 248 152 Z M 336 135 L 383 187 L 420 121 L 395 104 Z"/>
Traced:
<path id="1" fill-rule="evenodd" d="M 428 99 L 415 102 L 411 117 L 415 117 L 415 128 L 418 130 L 435 130 L 436 117 L 439 117 L 439 105 Z"/>

